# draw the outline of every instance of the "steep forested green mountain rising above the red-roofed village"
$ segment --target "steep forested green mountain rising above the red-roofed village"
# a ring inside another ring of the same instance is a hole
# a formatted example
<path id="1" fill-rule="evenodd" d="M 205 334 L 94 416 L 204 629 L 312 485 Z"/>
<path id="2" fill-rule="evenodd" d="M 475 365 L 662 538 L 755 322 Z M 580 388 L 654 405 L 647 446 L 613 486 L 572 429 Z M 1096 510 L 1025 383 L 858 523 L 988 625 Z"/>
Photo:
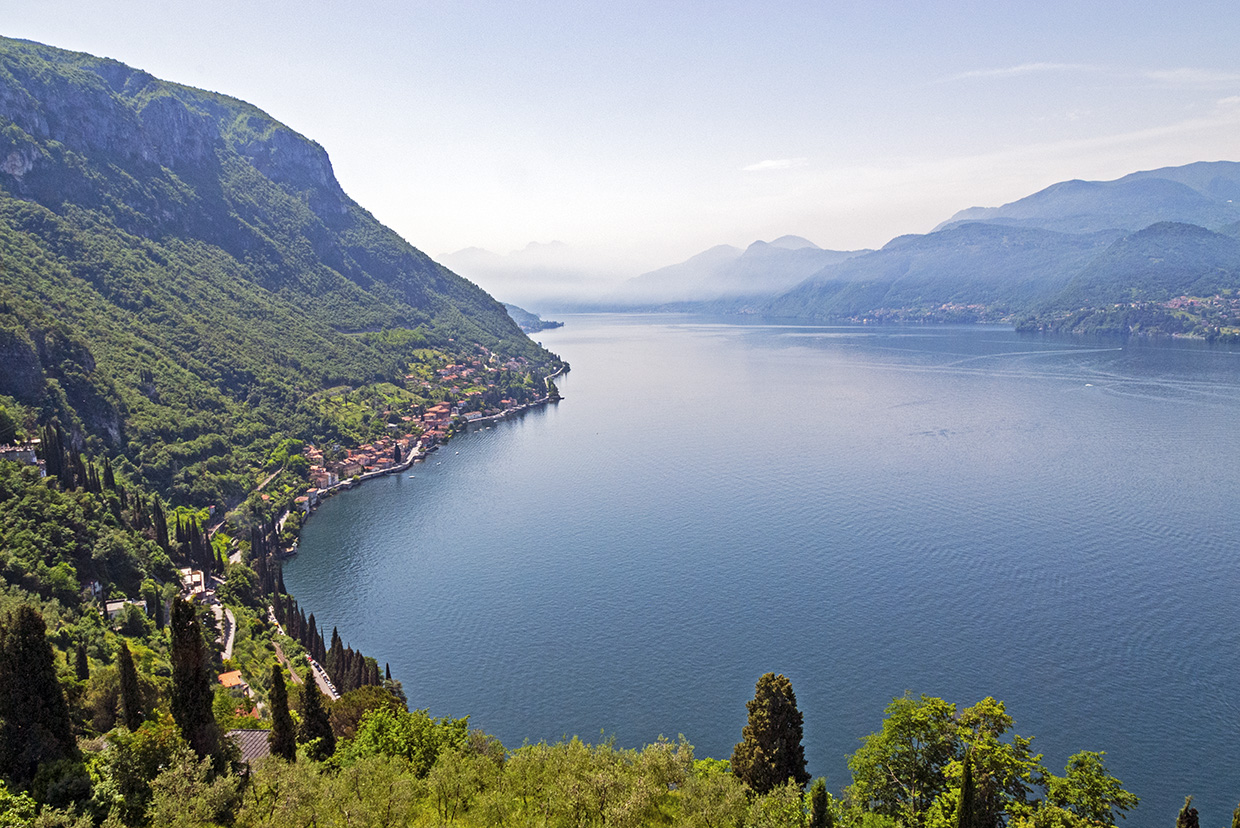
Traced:
<path id="1" fill-rule="evenodd" d="M 258 108 L 9 38 L 0 258 L 0 395 L 181 502 L 414 404 L 394 385 L 427 348 L 557 362 Z M 331 402 L 373 383 L 372 414 Z"/>

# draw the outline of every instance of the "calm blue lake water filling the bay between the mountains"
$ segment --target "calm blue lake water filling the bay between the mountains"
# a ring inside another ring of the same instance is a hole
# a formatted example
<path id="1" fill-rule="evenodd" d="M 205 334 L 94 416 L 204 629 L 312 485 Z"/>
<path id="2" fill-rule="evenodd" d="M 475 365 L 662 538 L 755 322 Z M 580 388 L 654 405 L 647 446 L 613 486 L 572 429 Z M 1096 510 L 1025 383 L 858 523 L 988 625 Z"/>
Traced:
<path id="1" fill-rule="evenodd" d="M 1240 348 L 572 316 L 565 399 L 332 498 L 285 581 L 510 747 L 728 757 L 785 673 L 811 773 L 905 690 L 1002 699 L 1130 826 L 1240 799 Z"/>

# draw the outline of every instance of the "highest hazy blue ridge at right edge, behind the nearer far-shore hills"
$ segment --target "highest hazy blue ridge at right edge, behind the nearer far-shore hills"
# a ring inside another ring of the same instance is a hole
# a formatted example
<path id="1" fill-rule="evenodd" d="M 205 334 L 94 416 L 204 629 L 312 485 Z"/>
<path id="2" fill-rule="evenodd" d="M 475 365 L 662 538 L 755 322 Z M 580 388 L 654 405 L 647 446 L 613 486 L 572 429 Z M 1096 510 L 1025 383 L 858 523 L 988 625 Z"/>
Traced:
<path id="1" fill-rule="evenodd" d="M 1002 207 L 962 209 L 960 222 L 1065 233 L 1138 231 L 1157 222 L 1216 228 L 1240 221 L 1240 164 L 1213 161 L 1133 172 L 1115 181 L 1061 181 Z"/>

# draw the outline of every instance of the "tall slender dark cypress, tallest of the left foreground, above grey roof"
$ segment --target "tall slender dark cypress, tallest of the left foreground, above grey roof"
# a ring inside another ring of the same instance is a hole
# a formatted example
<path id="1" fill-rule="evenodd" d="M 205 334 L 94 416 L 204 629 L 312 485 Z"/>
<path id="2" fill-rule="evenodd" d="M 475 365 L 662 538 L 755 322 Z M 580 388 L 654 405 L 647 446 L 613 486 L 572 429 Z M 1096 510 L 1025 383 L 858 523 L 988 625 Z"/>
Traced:
<path id="1" fill-rule="evenodd" d="M 215 682 L 211 662 L 202 642 L 202 625 L 193 605 L 182 599 L 172 601 L 172 719 L 181 735 L 198 756 L 219 755 L 219 725 L 211 710 Z"/>

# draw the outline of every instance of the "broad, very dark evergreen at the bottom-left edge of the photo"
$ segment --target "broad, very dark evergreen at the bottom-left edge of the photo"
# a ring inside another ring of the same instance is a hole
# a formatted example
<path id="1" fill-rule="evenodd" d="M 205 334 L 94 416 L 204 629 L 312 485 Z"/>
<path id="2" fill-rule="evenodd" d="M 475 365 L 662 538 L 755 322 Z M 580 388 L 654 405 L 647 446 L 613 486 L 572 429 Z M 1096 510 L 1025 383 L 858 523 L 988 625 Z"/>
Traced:
<path id="1" fill-rule="evenodd" d="M 0 620 L 0 777 L 24 788 L 40 765 L 74 756 L 47 627 L 22 604 Z"/>

